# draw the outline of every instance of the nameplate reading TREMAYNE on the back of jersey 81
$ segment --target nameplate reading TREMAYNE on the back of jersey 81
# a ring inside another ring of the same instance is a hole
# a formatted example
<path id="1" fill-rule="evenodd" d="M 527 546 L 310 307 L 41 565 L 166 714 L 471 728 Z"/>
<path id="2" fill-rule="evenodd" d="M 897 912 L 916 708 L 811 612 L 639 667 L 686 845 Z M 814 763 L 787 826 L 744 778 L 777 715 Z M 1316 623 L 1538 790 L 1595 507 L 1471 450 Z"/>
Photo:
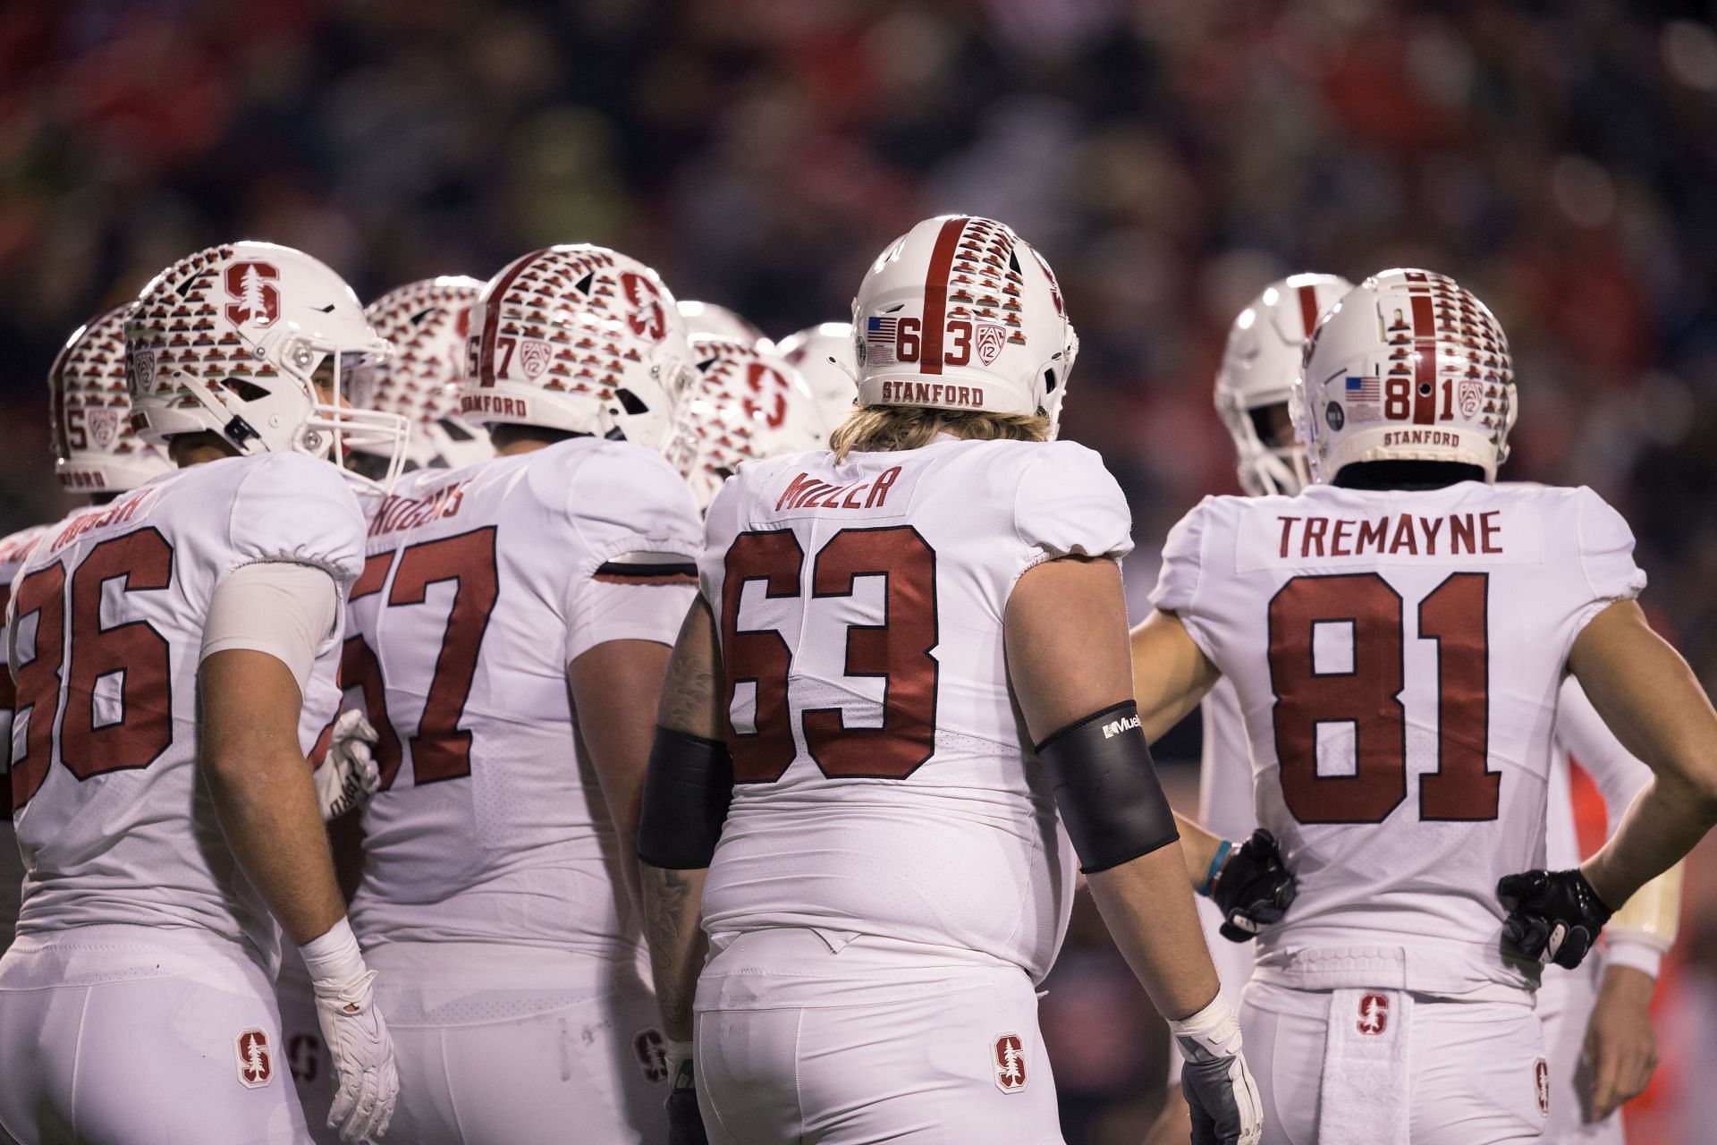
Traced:
<path id="1" fill-rule="evenodd" d="M 1343 565 L 1538 565 L 1544 529 L 1537 512 L 1461 508 L 1417 513 L 1319 513 L 1289 506 L 1248 512 L 1240 525 L 1235 572 Z"/>

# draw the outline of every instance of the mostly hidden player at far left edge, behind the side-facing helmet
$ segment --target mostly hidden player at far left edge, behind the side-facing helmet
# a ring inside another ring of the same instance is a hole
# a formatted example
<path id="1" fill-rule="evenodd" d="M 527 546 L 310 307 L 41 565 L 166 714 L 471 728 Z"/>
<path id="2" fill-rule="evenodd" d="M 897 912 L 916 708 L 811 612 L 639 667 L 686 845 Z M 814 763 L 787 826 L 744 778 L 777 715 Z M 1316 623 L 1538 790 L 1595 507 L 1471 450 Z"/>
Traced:
<path id="1" fill-rule="evenodd" d="M 106 505 L 172 470 L 167 453 L 130 429 L 125 395 L 125 311 L 117 306 L 72 331 L 48 367 L 48 421 L 53 470 L 60 488 L 82 494 L 89 505 Z M 5 647 L 5 606 L 29 546 L 50 525 L 21 529 L 0 539 L 0 649 Z M 0 671 L 0 733 L 12 747 L 12 675 Z M 0 953 L 12 944 L 22 858 L 12 836 L 12 798 L 0 797 Z"/>

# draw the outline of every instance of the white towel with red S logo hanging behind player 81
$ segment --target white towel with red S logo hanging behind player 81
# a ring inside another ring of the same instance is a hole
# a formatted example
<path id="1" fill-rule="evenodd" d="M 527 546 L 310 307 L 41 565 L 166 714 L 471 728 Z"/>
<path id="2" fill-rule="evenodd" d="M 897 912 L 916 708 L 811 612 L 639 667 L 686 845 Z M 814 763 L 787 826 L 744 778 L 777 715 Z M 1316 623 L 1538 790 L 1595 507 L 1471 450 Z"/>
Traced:
<path id="1" fill-rule="evenodd" d="M 1406 991 L 1331 991 L 1319 1145 L 1408 1145 Z"/>

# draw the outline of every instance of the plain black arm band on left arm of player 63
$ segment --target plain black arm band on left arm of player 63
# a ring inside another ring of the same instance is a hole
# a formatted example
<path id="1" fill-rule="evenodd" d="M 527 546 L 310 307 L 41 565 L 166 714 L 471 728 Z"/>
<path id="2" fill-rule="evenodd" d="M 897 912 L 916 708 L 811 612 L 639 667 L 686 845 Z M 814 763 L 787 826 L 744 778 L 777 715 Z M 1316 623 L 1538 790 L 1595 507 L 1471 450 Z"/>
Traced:
<path id="1" fill-rule="evenodd" d="M 728 745 L 656 728 L 639 810 L 639 858 L 663 870 L 702 870 L 733 802 Z"/>

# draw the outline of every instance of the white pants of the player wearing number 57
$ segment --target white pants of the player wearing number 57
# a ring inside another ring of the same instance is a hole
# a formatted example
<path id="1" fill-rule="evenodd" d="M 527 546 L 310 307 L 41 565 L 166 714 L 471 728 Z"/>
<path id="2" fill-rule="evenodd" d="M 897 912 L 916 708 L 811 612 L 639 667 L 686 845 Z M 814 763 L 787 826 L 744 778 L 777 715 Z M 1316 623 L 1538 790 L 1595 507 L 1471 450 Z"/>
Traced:
<path id="1" fill-rule="evenodd" d="M 390 1142 L 666 1138 L 666 1042 L 637 963 L 482 942 L 383 942 L 364 958 L 400 1069 Z"/>

